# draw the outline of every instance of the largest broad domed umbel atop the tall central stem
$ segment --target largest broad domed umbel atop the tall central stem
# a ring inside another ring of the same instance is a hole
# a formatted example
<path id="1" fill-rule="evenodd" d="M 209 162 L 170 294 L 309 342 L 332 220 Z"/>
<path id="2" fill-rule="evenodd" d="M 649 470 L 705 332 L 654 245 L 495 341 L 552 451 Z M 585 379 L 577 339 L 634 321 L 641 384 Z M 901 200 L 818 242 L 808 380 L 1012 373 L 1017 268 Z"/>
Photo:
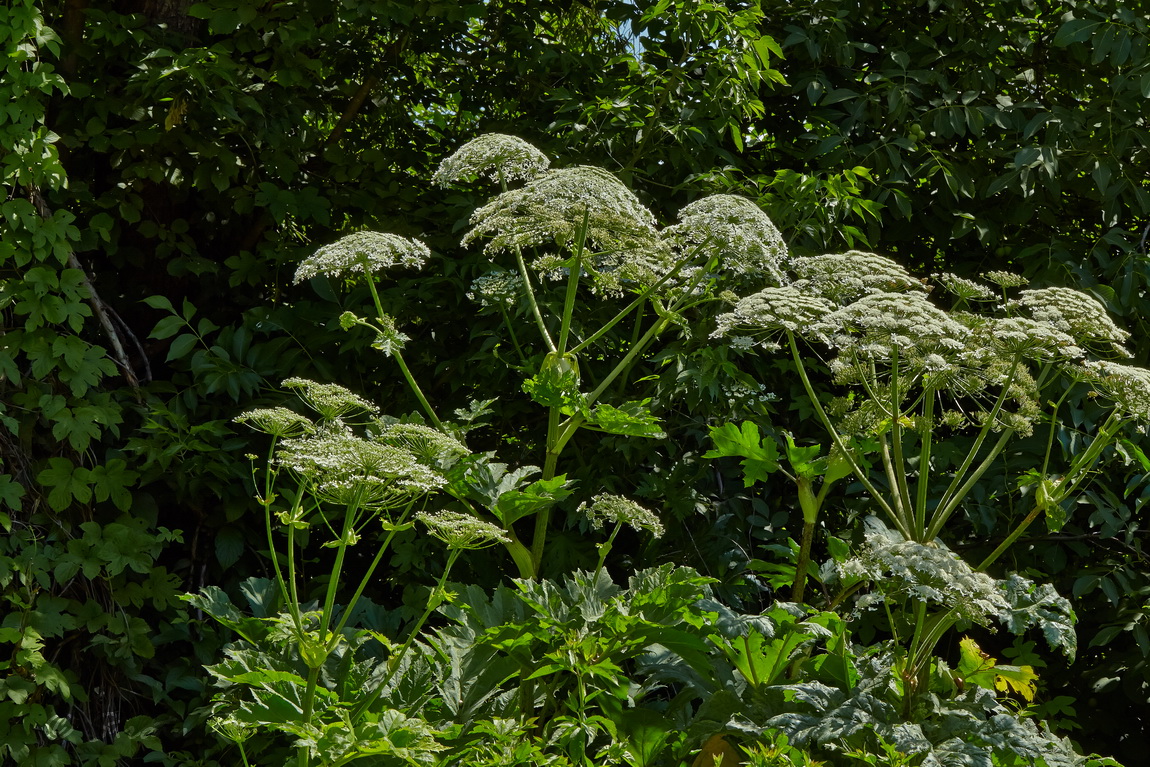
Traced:
<path id="1" fill-rule="evenodd" d="M 622 182 L 590 166 L 551 170 L 496 197 L 471 215 L 463 245 L 489 237 L 489 253 L 550 243 L 569 251 L 584 218 L 599 269 L 618 267 L 628 253 L 664 247 L 654 214 Z"/>

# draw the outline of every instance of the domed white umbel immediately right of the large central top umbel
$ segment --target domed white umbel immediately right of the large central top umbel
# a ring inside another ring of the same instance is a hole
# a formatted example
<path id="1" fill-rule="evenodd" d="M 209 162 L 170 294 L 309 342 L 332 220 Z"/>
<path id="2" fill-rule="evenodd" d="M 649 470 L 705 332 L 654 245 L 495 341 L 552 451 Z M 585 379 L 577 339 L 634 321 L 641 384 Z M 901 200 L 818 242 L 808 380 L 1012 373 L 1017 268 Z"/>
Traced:
<path id="1" fill-rule="evenodd" d="M 678 212 L 680 223 L 664 236 L 683 253 L 699 248 L 697 262 L 720 259 L 720 268 L 737 275 L 767 275 L 783 282 L 787 243 L 762 209 L 744 197 L 712 194 Z M 761 284 L 761 283 L 760 283 Z"/>

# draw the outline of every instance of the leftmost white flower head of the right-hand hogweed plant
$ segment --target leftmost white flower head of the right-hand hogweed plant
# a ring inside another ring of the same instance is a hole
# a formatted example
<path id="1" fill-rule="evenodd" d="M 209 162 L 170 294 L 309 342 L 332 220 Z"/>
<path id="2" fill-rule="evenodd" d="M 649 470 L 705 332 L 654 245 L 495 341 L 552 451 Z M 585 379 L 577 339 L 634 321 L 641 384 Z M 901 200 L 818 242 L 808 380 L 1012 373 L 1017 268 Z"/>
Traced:
<path id="1" fill-rule="evenodd" d="M 736 347 L 754 344 L 773 346 L 775 337 L 789 331 L 804 335 L 835 307 L 795 287 L 765 287 L 739 299 L 735 309 L 718 317 L 712 338 L 730 338 Z"/>

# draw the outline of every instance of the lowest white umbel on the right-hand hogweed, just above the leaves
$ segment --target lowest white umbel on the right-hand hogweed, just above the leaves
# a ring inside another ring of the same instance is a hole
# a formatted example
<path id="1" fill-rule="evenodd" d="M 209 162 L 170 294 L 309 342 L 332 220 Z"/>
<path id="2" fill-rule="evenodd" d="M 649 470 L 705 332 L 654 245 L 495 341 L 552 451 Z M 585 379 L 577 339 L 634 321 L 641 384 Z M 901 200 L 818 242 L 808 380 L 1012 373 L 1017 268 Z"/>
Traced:
<path id="1" fill-rule="evenodd" d="M 953 609 L 958 618 L 987 624 L 1010 614 L 997 581 L 975 573 L 941 543 L 906 540 L 876 517 L 866 520 L 866 544 L 859 555 L 839 566 L 841 577 L 867 578 L 879 591 L 861 606 L 883 599 L 921 599 Z"/>

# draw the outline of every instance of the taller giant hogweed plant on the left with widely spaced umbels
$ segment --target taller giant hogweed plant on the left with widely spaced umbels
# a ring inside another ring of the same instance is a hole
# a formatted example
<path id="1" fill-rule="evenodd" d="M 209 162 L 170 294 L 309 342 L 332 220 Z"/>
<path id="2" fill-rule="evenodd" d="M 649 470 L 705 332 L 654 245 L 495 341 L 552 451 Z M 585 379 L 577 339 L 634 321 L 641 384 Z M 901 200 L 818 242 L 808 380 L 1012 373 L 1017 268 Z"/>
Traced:
<path id="1" fill-rule="evenodd" d="M 190 600 L 240 637 L 228 659 L 210 670 L 225 690 L 220 730 L 240 746 L 245 761 L 248 728 L 261 737 L 291 736 L 300 765 L 342 765 L 383 754 L 432 759 L 437 733 L 421 719 L 421 707 L 431 703 L 411 692 L 404 680 L 428 673 L 425 653 L 419 651 L 421 630 L 450 601 L 446 582 L 458 557 L 501 544 L 518 574 L 537 580 L 552 507 L 573 494 L 559 471 L 573 436 L 592 429 L 661 437 L 649 400 L 619 394 L 626 374 L 669 329 L 689 332 L 688 313 L 714 300 L 724 275 L 733 285 L 782 275 L 787 254 L 777 230 L 739 198 L 705 198 L 685 208 L 677 224 L 660 230 L 611 174 L 590 167 L 549 169 L 538 151 L 507 136 L 466 145 L 443 163 L 436 181 L 478 175 L 494 178 L 501 191 L 475 212 L 463 243 L 484 240 L 492 260 L 506 259 L 512 268 L 493 264 L 473 294 L 503 314 L 521 369 L 529 374 L 523 390 L 546 409 L 542 469 L 509 468 L 493 454 L 473 453 L 467 434 L 490 401 L 455 411 L 455 421 L 444 419 L 424 394 L 419 371 L 407 365 L 404 350 L 411 339 L 386 312 L 376 281 L 390 269 L 422 266 L 429 256 L 423 244 L 356 232 L 302 261 L 297 282 L 322 275 L 367 284 L 371 309 L 344 312 L 339 324 L 371 335 L 373 347 L 394 361 L 421 409 L 402 419 L 382 416 L 373 404 L 336 384 L 289 379 L 283 385 L 300 396 L 312 415 L 274 407 L 239 416 L 271 437 L 256 485 L 274 578 L 250 588 L 264 595 L 253 603 L 255 618 L 244 618 L 218 590 Z M 555 285 L 560 300 L 540 300 Z M 605 296 L 632 298 L 603 324 L 589 327 L 589 313 L 581 308 Z M 516 314 L 520 307 L 526 323 Z M 584 390 L 584 358 L 628 319 L 635 328 L 629 343 L 614 356 L 597 352 L 608 367 Z M 615 404 L 605 401 L 608 389 Z M 532 482 L 535 476 L 539 478 Z M 437 507 L 446 511 L 427 511 Z M 604 561 L 621 526 L 661 532 L 657 516 L 618 496 L 599 493 L 578 508 L 592 527 L 608 527 L 591 582 L 607 577 Z M 531 516 L 524 543 L 519 527 Z M 422 615 L 400 642 L 356 621 L 374 609 L 368 589 L 396 536 L 415 524 L 443 539 L 450 554 Z M 329 568 L 322 576 L 309 569 L 316 545 L 330 550 L 319 560 Z M 371 551 L 348 567 L 352 552 L 363 547 Z M 355 582 L 345 583 L 353 569 Z M 538 670 L 524 667 L 519 674 L 524 720 L 540 700 L 538 689 L 545 688 L 537 682 Z"/>

